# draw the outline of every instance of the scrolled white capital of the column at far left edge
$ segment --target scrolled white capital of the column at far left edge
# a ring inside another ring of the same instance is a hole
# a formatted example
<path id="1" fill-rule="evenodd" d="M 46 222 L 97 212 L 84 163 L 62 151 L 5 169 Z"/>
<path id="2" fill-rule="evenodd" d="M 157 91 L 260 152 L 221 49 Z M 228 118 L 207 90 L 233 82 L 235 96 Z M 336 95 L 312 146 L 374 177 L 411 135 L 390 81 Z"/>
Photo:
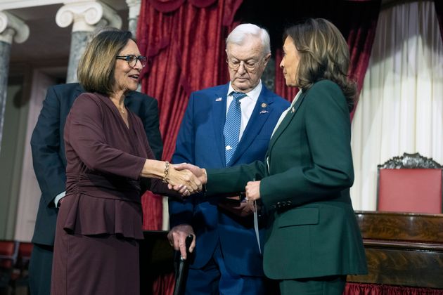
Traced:
<path id="1" fill-rule="evenodd" d="M 30 27 L 23 20 L 6 11 L 0 11 L 0 41 L 23 43 L 30 36 Z"/>

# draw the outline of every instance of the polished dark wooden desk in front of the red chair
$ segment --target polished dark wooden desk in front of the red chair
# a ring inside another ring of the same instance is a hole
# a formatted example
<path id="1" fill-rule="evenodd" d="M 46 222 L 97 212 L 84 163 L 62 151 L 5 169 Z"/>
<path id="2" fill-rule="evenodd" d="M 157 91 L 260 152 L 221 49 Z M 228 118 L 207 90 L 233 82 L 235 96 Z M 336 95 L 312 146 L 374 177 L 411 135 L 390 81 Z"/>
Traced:
<path id="1" fill-rule="evenodd" d="M 443 214 L 356 211 L 368 275 L 348 282 L 443 289 Z"/>

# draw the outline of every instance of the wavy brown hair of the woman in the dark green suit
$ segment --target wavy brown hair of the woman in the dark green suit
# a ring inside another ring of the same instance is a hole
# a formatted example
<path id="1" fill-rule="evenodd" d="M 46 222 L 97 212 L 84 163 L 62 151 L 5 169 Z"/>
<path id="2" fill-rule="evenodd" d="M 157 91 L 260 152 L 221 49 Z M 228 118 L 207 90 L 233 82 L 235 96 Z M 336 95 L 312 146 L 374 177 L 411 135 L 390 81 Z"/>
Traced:
<path id="1" fill-rule="evenodd" d="M 300 54 L 297 86 L 306 90 L 322 79 L 334 81 L 352 110 L 357 87 L 355 81 L 347 77 L 349 49 L 338 28 L 323 18 L 309 18 L 286 29 L 283 41 L 286 37 L 293 39 Z"/>

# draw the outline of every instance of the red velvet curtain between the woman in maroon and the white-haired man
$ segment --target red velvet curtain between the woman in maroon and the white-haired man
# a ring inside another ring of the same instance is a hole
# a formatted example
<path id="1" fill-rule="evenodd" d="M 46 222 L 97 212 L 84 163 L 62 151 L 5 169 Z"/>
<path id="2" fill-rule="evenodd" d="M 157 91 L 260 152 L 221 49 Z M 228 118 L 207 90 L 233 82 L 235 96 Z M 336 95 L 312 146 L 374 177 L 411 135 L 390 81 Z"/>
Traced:
<path id="1" fill-rule="evenodd" d="M 191 91 L 227 81 L 224 39 L 241 0 L 146 0 L 137 39 L 148 66 L 142 91 L 158 99 L 163 159 L 170 160 Z M 143 229 L 162 227 L 162 199 L 142 197 Z"/>

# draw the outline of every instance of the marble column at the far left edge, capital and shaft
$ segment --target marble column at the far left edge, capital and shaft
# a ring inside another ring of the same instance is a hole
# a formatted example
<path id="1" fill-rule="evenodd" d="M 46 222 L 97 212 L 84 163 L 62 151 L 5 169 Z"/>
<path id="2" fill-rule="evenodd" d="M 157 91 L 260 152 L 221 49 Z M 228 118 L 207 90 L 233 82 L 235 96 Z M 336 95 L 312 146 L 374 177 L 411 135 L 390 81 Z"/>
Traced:
<path id="1" fill-rule="evenodd" d="M 0 148 L 6 109 L 11 45 L 13 41 L 23 43 L 29 35 L 30 29 L 23 20 L 6 11 L 0 11 Z"/>

